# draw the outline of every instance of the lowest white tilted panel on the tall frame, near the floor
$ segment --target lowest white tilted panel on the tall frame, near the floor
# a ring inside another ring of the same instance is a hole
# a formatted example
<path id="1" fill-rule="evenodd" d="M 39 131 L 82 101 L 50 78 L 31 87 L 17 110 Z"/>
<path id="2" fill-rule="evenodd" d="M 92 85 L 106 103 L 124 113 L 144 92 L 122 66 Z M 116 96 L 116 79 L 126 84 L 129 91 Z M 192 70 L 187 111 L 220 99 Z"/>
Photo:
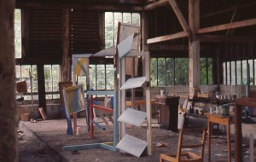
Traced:
<path id="1" fill-rule="evenodd" d="M 147 142 L 144 142 L 137 137 L 125 135 L 122 140 L 117 144 L 116 148 L 119 148 L 120 150 L 125 151 L 126 153 L 130 153 L 139 158 L 147 145 Z"/>

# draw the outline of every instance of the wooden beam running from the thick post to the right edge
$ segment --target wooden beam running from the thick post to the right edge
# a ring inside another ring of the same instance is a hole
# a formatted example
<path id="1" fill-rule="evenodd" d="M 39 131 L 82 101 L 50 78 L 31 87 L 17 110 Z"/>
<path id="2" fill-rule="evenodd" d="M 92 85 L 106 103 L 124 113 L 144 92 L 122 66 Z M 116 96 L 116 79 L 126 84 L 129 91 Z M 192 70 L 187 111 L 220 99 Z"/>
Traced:
<path id="1" fill-rule="evenodd" d="M 202 29 L 199 29 L 197 31 L 197 33 L 202 34 L 202 33 L 207 33 L 207 32 L 218 32 L 218 31 L 224 31 L 227 29 L 234 29 L 234 28 L 238 28 L 238 27 L 254 26 L 254 25 L 256 25 L 256 18 L 249 19 L 249 20 L 241 20 L 238 22 L 232 22 L 232 23 L 218 25 L 218 26 L 202 28 Z"/>

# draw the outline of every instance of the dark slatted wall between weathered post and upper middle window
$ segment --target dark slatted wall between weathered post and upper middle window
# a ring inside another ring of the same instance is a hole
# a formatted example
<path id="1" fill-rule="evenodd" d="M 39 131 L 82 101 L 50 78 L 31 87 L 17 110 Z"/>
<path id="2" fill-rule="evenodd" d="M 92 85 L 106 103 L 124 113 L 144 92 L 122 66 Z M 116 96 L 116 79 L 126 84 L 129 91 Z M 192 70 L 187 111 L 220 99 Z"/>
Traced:
<path id="1" fill-rule="evenodd" d="M 83 9 L 70 11 L 70 54 L 91 54 L 101 49 L 99 13 Z"/>

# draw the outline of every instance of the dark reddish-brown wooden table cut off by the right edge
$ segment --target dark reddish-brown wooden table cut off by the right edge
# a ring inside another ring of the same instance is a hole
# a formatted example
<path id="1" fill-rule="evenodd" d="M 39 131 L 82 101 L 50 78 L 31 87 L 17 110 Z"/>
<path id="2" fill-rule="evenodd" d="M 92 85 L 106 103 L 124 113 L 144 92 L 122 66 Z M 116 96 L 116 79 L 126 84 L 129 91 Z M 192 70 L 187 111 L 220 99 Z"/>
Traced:
<path id="1" fill-rule="evenodd" d="M 235 101 L 235 156 L 242 161 L 241 107 L 256 107 L 256 98 L 241 97 Z"/>

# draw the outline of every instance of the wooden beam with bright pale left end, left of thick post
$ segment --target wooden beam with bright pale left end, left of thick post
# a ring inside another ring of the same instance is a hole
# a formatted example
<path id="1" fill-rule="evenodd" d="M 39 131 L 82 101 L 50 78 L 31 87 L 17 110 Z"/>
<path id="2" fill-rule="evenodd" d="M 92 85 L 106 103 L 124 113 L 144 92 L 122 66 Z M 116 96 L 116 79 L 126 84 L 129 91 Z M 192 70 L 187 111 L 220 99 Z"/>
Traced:
<path id="1" fill-rule="evenodd" d="M 149 38 L 147 40 L 147 43 L 159 43 L 159 42 L 164 42 L 164 41 L 173 40 L 177 38 L 185 38 L 185 37 L 188 37 L 186 32 L 177 32 L 175 34 L 160 36 L 157 38 Z"/>

